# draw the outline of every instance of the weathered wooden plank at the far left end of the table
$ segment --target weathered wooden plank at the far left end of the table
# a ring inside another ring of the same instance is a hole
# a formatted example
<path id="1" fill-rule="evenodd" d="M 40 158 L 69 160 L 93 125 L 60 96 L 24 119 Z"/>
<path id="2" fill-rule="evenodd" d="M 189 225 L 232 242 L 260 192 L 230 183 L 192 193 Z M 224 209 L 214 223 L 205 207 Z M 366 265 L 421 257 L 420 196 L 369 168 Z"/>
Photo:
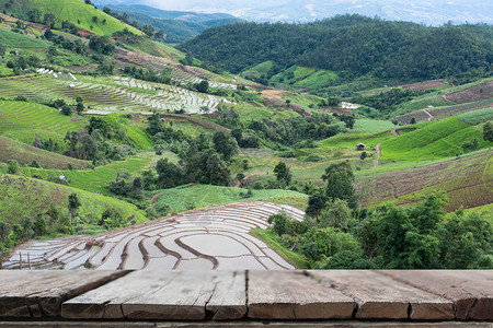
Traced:
<path id="1" fill-rule="evenodd" d="M 0 271 L 0 317 L 59 316 L 61 303 L 127 271 Z"/>

